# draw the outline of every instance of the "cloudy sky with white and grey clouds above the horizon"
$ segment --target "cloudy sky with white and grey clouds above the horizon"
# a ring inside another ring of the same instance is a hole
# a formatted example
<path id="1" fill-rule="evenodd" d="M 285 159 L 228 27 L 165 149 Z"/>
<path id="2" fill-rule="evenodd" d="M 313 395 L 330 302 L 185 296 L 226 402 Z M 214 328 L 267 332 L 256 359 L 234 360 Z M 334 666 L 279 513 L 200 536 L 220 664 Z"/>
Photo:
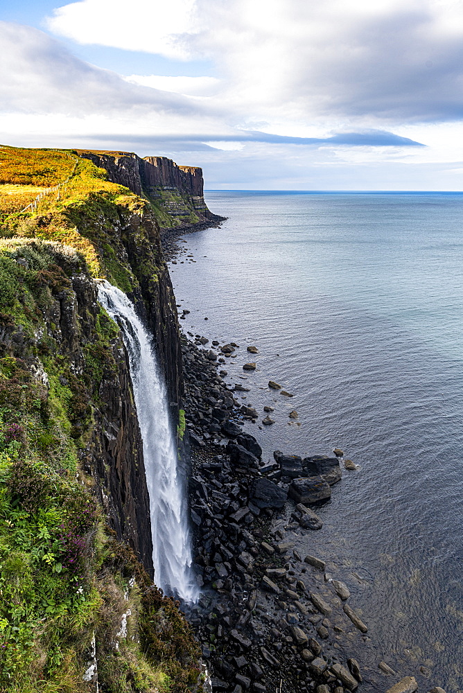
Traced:
<path id="1" fill-rule="evenodd" d="M 460 191 L 463 2 L 0 0 L 0 143 L 218 190 Z"/>

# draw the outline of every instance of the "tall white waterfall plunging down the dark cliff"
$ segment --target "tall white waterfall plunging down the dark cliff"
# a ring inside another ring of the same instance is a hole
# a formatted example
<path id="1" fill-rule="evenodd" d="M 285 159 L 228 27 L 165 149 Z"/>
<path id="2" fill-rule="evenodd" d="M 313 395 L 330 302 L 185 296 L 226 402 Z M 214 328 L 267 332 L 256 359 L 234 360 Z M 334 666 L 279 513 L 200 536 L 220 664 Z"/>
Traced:
<path id="1" fill-rule="evenodd" d="M 107 281 L 101 282 L 98 299 L 119 324 L 128 351 L 150 495 L 155 583 L 167 594 L 195 602 L 199 589 L 191 568 L 188 503 L 177 468 L 166 386 L 152 340 L 135 313 L 132 301 L 121 290 Z"/>

